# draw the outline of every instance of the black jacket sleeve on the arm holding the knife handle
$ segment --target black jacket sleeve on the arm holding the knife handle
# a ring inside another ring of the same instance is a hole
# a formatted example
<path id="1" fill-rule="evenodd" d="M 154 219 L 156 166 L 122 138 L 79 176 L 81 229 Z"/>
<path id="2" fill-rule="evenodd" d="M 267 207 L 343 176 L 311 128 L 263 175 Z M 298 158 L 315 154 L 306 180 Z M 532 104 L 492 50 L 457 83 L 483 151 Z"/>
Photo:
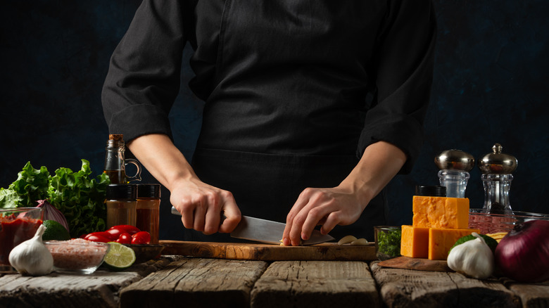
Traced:
<path id="1" fill-rule="evenodd" d="M 187 42 L 179 0 L 144 0 L 116 47 L 101 101 L 110 134 L 125 141 L 151 133 L 172 137 L 168 113 L 179 93 Z"/>

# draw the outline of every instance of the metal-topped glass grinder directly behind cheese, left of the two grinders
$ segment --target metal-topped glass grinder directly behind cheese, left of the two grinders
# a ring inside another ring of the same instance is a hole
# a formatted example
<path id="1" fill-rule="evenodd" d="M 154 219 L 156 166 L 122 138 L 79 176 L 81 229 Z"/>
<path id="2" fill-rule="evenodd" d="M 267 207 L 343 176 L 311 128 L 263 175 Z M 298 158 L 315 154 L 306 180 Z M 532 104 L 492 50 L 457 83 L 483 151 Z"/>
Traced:
<path id="1" fill-rule="evenodd" d="M 446 197 L 465 198 L 469 171 L 474 167 L 474 157 L 462 150 L 444 150 L 435 158 L 435 165 L 441 169 L 438 179 L 446 187 Z"/>

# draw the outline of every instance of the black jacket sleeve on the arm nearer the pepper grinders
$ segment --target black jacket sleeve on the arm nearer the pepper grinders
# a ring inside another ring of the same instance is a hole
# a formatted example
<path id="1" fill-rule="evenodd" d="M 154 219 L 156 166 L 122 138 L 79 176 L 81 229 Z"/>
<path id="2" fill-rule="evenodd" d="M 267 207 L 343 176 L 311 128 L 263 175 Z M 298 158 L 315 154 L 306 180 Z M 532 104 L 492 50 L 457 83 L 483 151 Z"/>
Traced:
<path id="1" fill-rule="evenodd" d="M 423 122 L 433 79 L 436 17 L 431 0 L 389 1 L 376 53 L 376 94 L 366 114 L 358 155 L 387 141 L 407 155 L 412 170 L 423 143 Z"/>

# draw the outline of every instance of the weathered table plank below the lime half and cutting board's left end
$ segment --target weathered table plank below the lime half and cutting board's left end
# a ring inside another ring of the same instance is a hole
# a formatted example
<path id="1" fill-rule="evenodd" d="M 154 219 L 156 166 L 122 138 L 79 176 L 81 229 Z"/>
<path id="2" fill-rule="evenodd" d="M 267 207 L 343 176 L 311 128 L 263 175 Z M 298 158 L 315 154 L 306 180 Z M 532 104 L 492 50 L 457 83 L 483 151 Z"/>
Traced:
<path id="1" fill-rule="evenodd" d="M 248 307 L 263 261 L 184 258 L 123 288 L 120 307 Z"/>

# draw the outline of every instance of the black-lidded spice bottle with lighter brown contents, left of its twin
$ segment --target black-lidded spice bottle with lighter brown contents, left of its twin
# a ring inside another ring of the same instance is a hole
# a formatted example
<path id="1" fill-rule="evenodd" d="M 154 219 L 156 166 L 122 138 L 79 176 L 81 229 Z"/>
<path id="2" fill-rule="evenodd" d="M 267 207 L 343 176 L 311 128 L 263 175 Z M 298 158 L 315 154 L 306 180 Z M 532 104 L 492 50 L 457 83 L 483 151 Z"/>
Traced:
<path id="1" fill-rule="evenodd" d="M 119 224 L 135 226 L 137 219 L 137 186 L 110 184 L 106 189 L 107 229 Z"/>

